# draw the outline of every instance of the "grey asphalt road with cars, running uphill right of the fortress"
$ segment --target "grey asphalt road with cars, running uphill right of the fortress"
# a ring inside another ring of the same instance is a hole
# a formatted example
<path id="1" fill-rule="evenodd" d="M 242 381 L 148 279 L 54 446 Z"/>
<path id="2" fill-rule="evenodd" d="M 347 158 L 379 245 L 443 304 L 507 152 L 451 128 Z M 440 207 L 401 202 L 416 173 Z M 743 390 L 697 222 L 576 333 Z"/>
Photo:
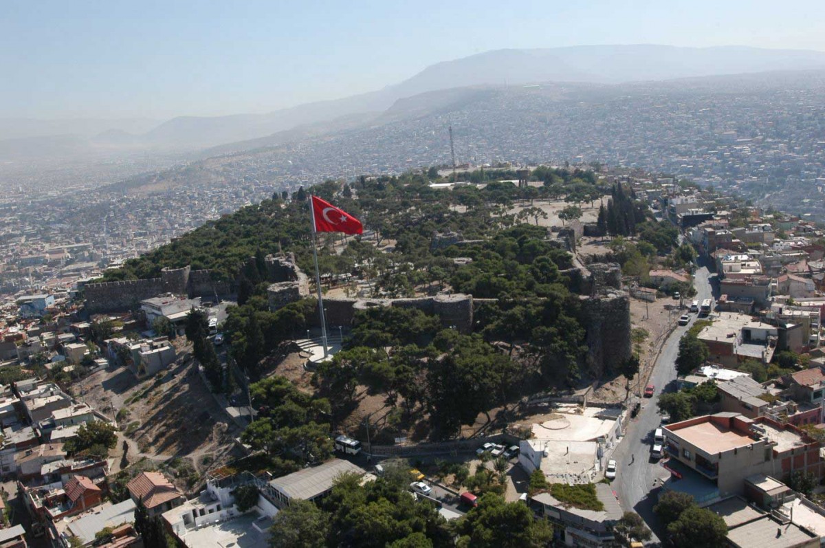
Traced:
<path id="1" fill-rule="evenodd" d="M 711 275 L 707 267 L 697 268 L 694 273 L 696 296 L 693 299 L 701 303 L 702 300 L 711 298 L 714 281 L 715 274 Z M 676 322 L 681 314 L 682 312 L 674 310 L 672 321 Z M 656 392 L 653 398 L 641 400 L 642 409 L 636 418 L 630 419 L 625 437 L 616 447 L 612 457 L 618 467 L 613 489 L 619 497 L 621 507 L 625 511 L 632 510 L 639 513 L 654 533 L 658 530 L 658 522 L 653 515 L 653 505 L 658 496 L 658 480 L 667 479 L 669 475 L 659 461 L 650 457 L 653 431 L 661 423 L 657 402 L 662 390 L 673 390 L 672 381 L 676 379 L 674 364 L 679 352 L 679 339 L 696 319 L 696 314 L 690 315 L 691 323 L 686 326 L 676 325 L 664 343 L 648 380 L 648 384 L 655 386 Z"/>

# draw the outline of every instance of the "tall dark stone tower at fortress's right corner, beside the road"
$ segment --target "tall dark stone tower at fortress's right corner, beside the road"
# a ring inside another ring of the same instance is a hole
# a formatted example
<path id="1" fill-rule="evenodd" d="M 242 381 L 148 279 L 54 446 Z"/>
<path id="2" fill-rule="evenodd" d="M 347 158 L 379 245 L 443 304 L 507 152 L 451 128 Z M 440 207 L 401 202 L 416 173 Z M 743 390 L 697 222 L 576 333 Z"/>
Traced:
<path id="1" fill-rule="evenodd" d="M 630 357 L 630 298 L 626 291 L 582 296 L 582 319 L 587 336 L 587 367 L 592 376 L 615 371 Z"/>

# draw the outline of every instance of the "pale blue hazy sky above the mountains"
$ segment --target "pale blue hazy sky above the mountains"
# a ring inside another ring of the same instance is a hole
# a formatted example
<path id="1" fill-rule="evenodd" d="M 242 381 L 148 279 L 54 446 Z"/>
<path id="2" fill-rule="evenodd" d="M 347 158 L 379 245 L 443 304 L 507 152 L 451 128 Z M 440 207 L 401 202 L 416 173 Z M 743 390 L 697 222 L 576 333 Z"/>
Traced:
<path id="1" fill-rule="evenodd" d="M 0 117 L 263 112 L 486 50 L 825 50 L 823 29 L 823 0 L 0 0 Z"/>

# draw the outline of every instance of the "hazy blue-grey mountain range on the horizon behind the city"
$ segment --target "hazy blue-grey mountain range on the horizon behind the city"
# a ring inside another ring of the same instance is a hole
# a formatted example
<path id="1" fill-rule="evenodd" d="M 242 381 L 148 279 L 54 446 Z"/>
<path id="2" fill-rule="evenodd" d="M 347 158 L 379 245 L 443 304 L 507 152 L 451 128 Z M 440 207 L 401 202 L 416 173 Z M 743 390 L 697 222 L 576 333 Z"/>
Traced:
<path id="1" fill-rule="evenodd" d="M 223 154 L 369 123 L 400 101 L 450 88 L 537 83 L 610 85 L 775 70 L 825 68 L 825 52 L 742 46 L 582 45 L 494 50 L 431 65 L 401 83 L 266 114 L 154 120 L 0 120 L 0 159 L 100 149 L 177 149 Z M 440 99 L 441 100 L 441 99 Z M 419 101 L 427 102 L 426 97 Z M 407 101 L 407 108 L 414 101 Z M 204 154 L 204 153 L 201 153 Z"/>

